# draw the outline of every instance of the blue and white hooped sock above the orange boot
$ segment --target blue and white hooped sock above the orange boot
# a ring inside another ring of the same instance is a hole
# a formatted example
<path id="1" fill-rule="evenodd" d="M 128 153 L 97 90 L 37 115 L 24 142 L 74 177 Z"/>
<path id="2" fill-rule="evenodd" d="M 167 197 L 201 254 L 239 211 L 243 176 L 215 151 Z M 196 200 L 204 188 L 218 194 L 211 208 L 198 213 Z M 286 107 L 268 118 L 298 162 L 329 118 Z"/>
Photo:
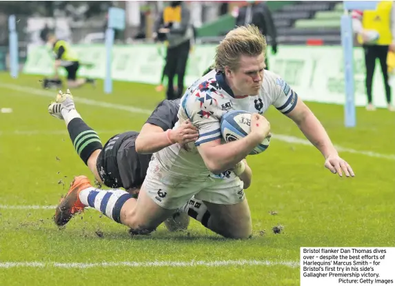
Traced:
<path id="1" fill-rule="evenodd" d="M 123 190 L 100 190 L 89 187 L 79 193 L 81 203 L 108 216 L 117 223 L 121 223 L 121 208 L 132 198 L 132 195 Z"/>

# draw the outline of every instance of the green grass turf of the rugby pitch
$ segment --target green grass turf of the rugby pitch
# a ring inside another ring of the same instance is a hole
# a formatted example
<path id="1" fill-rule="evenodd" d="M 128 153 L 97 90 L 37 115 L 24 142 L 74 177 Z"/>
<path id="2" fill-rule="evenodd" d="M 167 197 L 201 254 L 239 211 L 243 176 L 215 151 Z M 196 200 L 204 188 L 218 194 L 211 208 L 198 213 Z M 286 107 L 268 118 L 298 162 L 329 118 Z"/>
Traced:
<path id="1" fill-rule="evenodd" d="M 1 83 L 39 90 L 38 76 Z M 152 110 L 164 94 L 152 85 L 114 83 L 104 94 L 102 83 L 74 90 L 74 96 Z M 72 176 L 90 175 L 75 154 L 62 121 L 46 111 L 50 98 L 0 88 L 0 205 L 56 205 Z M 395 114 L 357 109 L 358 126 L 343 127 L 343 107 L 308 103 L 334 143 L 354 150 L 395 154 Z M 77 103 L 83 119 L 99 131 L 103 143 L 122 130 L 139 130 L 148 114 Z M 298 128 L 271 108 L 272 132 L 303 138 Z M 37 131 L 41 134 L 17 134 Z M 47 132 L 47 134 L 45 134 Z M 48 134 L 50 132 L 63 132 Z M 314 147 L 272 140 L 264 154 L 249 156 L 254 172 L 247 198 L 253 238 L 231 241 L 192 222 L 188 231 L 164 227 L 150 236 L 87 210 L 67 227 L 52 222 L 53 210 L 5 210 L 0 207 L 0 263 L 101 263 L 150 261 L 298 261 L 305 246 L 394 246 L 395 161 L 341 153 L 356 177 L 338 178 L 323 167 Z M 63 183 L 65 185 L 63 185 Z M 270 214 L 271 211 L 276 214 Z M 272 227 L 283 225 L 281 234 Z M 99 237 L 97 232 L 102 232 Z M 0 268 L 0 285 L 299 285 L 298 267 L 56 267 Z"/>

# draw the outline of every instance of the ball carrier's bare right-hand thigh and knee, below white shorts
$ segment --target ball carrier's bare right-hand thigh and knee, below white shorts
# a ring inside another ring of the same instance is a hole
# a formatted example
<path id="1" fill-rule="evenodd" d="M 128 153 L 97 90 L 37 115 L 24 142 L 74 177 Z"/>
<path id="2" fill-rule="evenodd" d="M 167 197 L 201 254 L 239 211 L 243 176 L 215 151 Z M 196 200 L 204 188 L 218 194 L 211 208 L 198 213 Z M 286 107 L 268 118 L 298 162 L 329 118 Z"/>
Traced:
<path id="1" fill-rule="evenodd" d="M 215 228 L 225 237 L 248 238 L 252 234 L 250 206 L 247 198 L 234 205 L 220 205 L 204 201 Z"/>

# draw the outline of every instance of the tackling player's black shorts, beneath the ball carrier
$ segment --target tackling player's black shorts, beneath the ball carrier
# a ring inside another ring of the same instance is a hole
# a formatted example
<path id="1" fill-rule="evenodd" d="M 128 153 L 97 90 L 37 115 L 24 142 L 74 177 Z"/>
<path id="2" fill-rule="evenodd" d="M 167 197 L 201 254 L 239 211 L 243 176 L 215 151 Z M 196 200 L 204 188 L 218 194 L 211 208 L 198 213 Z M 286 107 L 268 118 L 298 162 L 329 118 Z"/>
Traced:
<path id="1" fill-rule="evenodd" d="M 129 190 L 143 184 L 152 154 L 136 152 L 138 135 L 137 132 L 125 132 L 112 136 L 105 143 L 97 158 L 96 167 L 106 186 Z"/>

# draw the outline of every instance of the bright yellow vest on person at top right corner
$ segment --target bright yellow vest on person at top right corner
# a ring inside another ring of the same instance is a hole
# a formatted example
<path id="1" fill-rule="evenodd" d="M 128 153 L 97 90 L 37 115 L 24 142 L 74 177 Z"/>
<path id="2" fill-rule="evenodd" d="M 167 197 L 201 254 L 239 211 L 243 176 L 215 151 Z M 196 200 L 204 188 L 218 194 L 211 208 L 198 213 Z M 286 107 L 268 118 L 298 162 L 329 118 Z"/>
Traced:
<path id="1" fill-rule="evenodd" d="M 392 43 L 391 9 L 392 1 L 380 1 L 376 10 L 363 11 L 363 28 L 365 30 L 376 30 L 380 35 L 375 43 L 376 45 L 389 45 Z M 358 36 L 358 42 L 362 43 L 360 36 Z"/>

